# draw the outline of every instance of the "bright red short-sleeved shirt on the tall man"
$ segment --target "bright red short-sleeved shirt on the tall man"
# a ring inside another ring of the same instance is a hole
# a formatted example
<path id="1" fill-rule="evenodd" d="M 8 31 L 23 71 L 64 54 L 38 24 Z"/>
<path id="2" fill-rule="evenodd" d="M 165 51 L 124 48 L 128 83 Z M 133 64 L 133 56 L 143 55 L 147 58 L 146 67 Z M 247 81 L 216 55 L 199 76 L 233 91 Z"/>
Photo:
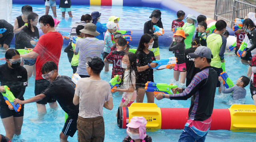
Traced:
<path id="1" fill-rule="evenodd" d="M 39 54 L 36 57 L 36 80 L 43 79 L 41 68 L 47 61 L 55 62 L 58 67 L 62 44 L 62 35 L 58 32 L 48 32 L 40 36 L 36 47 L 33 49 Z"/>

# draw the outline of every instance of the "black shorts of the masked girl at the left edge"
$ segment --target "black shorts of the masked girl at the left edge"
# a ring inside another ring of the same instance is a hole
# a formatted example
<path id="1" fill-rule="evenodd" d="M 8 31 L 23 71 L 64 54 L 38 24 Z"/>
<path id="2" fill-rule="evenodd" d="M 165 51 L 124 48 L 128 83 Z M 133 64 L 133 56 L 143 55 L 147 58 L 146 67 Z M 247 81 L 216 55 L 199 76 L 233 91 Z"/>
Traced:
<path id="1" fill-rule="evenodd" d="M 24 104 L 21 105 L 21 109 L 20 109 L 19 112 L 16 112 L 15 110 L 10 110 L 7 105 L 6 106 L 0 106 L 0 117 L 1 117 L 1 119 L 8 118 L 10 116 L 13 116 L 13 117 L 24 116 Z"/>

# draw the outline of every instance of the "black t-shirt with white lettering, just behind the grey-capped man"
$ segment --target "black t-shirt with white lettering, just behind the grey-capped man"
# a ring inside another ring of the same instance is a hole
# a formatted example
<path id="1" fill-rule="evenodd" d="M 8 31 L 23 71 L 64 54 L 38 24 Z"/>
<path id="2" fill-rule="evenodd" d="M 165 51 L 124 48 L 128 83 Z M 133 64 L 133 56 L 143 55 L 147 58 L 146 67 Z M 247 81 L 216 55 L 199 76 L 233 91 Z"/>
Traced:
<path id="1" fill-rule="evenodd" d="M 196 47 L 191 47 L 185 50 L 185 62 L 187 68 L 186 78 L 192 79 L 196 73 L 200 72 L 200 68 L 196 68 L 193 62 L 194 58 L 188 56 L 189 53 L 194 53 L 196 51 Z"/>

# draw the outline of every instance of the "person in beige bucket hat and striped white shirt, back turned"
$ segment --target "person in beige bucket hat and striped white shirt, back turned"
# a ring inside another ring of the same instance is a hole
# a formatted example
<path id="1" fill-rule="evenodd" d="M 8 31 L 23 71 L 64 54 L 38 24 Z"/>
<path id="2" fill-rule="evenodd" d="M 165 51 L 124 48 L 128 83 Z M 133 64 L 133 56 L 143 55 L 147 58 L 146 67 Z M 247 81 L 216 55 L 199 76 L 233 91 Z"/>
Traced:
<path id="1" fill-rule="evenodd" d="M 76 47 L 74 54 L 77 55 L 79 52 L 79 62 L 76 73 L 79 74 L 81 78 L 90 77 L 86 71 L 85 58 L 97 56 L 100 58 L 100 55 L 103 52 L 104 41 L 97 40 L 95 36 L 98 36 L 100 33 L 96 31 L 96 25 L 92 23 L 87 23 L 84 25 L 84 29 L 80 30 L 82 36 L 85 38 L 80 38 L 76 40 Z"/>

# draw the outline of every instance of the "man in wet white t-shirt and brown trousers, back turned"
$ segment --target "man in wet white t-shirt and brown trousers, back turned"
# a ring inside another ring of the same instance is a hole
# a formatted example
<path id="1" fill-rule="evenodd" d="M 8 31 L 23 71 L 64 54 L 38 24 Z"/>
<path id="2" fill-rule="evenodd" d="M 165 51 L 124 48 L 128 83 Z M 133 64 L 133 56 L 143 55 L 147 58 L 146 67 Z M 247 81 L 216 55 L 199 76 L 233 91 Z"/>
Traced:
<path id="1" fill-rule="evenodd" d="M 78 142 L 103 142 L 105 126 L 103 107 L 112 110 L 113 99 L 108 82 L 100 79 L 104 67 L 101 58 L 87 57 L 86 70 L 89 78 L 81 78 L 76 84 L 74 105 L 80 104 L 77 120 Z"/>

